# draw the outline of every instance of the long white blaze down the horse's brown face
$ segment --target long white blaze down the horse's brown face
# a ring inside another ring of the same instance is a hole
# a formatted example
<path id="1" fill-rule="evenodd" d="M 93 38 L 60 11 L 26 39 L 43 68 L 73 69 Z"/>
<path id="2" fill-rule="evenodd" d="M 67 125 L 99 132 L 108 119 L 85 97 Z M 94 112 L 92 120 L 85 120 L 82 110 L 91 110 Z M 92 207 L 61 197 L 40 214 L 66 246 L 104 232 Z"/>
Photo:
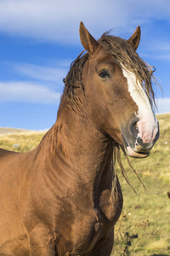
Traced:
<path id="1" fill-rule="evenodd" d="M 136 76 L 122 67 L 122 73 L 127 79 L 128 91 L 133 98 L 133 102 L 138 106 L 138 113 L 135 113 L 139 118 L 137 123 L 139 134 L 143 143 L 151 143 L 156 137 L 158 131 L 158 121 L 150 105 L 150 101 L 142 85 L 136 79 Z"/>

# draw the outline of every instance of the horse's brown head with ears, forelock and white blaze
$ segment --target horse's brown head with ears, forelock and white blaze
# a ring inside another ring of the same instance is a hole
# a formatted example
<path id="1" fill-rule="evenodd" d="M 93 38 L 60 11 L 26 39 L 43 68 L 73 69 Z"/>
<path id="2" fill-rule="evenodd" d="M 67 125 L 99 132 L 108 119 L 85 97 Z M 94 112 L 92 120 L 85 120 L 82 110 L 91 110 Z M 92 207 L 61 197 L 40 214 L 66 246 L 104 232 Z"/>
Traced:
<path id="1" fill-rule="evenodd" d="M 96 41 L 81 22 L 80 38 L 88 50 L 82 84 L 95 125 L 123 143 L 128 155 L 148 156 L 159 125 L 152 110 L 152 73 L 136 53 L 139 26 L 128 40 L 103 35 Z"/>

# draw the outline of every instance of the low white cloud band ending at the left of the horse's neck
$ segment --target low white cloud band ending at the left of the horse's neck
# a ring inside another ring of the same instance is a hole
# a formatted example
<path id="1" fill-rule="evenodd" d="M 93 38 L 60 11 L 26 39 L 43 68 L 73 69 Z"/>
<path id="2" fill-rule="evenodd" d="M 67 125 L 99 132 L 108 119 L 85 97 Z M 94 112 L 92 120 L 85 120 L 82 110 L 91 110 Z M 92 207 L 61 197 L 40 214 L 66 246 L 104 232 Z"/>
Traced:
<path id="1" fill-rule="evenodd" d="M 59 104 L 61 94 L 33 82 L 0 82 L 0 102 Z"/>

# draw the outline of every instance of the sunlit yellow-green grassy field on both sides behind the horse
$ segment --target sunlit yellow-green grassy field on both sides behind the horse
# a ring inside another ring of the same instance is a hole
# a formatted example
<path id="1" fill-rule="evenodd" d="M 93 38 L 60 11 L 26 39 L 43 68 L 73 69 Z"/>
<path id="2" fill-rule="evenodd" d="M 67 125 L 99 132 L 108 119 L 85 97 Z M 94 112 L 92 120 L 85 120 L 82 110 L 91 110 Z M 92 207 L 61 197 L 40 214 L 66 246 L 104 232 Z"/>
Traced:
<path id="1" fill-rule="evenodd" d="M 144 182 L 127 165 L 127 176 L 137 194 L 126 183 L 117 166 L 122 185 L 124 206 L 115 227 L 115 246 L 111 256 L 167 256 L 170 255 L 170 114 L 159 115 L 161 135 L 150 156 L 144 160 L 130 159 Z M 1 134 L 0 148 L 26 152 L 40 142 L 42 132 Z"/>

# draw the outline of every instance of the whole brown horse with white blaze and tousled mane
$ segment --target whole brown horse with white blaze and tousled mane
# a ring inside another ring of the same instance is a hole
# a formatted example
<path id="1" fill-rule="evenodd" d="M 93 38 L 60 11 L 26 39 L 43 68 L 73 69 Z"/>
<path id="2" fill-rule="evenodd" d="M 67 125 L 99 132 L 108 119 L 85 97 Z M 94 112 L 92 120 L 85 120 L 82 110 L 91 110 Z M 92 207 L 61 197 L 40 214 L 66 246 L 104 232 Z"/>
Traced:
<path id="1" fill-rule="evenodd" d="M 30 152 L 0 149 L 0 255 L 111 255 L 122 212 L 113 152 L 146 157 L 159 137 L 139 26 L 96 41 L 81 23 L 80 38 L 88 52 L 64 80 L 54 126 Z"/>

